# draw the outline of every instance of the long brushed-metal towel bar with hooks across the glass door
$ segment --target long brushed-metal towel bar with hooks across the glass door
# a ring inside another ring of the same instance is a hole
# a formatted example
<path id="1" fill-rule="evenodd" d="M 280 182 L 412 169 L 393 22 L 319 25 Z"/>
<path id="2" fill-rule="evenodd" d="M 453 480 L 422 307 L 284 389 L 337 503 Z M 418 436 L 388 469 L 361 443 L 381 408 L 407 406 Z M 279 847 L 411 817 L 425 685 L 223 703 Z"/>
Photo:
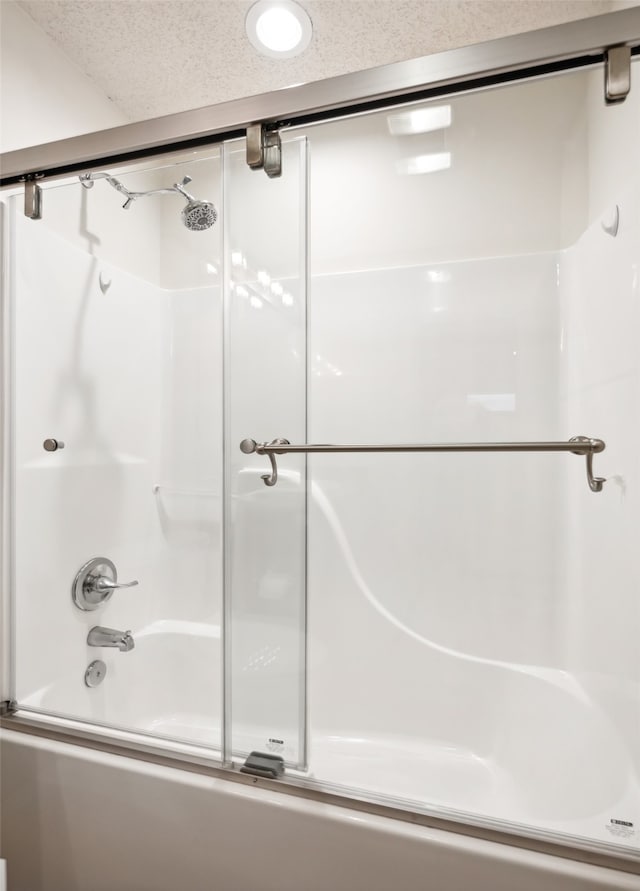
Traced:
<path id="1" fill-rule="evenodd" d="M 245 455 L 267 455 L 271 461 L 271 473 L 262 475 L 265 486 L 275 486 L 278 482 L 276 455 L 308 452 L 571 452 L 584 455 L 587 459 L 587 482 L 592 492 L 601 492 L 606 482 L 603 477 L 593 475 L 593 456 L 603 452 L 605 443 L 590 436 L 574 436 L 568 442 L 446 442 L 405 445 L 292 445 L 288 439 L 274 439 L 271 442 L 256 442 L 243 439 L 240 451 Z"/>

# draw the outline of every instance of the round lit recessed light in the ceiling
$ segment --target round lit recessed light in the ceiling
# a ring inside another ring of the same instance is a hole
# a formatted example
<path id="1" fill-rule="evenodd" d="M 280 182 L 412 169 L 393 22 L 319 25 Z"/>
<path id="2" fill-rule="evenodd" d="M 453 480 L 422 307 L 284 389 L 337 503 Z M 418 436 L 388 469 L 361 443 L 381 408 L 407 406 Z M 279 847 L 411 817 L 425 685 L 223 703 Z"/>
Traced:
<path id="1" fill-rule="evenodd" d="M 258 0 L 244 24 L 253 46 L 273 59 L 297 56 L 311 41 L 311 19 L 293 0 Z"/>

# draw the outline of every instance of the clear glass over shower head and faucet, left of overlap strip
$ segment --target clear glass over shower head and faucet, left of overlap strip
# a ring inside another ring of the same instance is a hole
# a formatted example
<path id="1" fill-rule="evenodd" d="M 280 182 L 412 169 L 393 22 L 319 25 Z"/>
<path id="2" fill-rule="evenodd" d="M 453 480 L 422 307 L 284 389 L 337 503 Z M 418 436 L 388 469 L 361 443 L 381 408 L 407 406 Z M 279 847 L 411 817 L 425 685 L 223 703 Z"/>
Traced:
<path id="1" fill-rule="evenodd" d="M 218 149 L 115 174 L 134 191 L 189 175 L 219 207 Z M 40 221 L 21 199 L 15 698 L 219 747 L 222 227 L 186 228 L 177 194 L 123 210 L 104 179 L 47 186 Z"/>

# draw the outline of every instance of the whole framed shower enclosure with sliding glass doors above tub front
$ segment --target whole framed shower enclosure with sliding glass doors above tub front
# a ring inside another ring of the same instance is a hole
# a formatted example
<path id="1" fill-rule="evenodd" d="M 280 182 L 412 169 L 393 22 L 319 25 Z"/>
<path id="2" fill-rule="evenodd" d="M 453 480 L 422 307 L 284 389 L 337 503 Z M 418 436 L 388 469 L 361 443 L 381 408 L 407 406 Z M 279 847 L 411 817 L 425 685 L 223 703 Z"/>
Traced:
<path id="1" fill-rule="evenodd" d="M 5 730 L 639 871 L 639 45 L 4 156 Z"/>

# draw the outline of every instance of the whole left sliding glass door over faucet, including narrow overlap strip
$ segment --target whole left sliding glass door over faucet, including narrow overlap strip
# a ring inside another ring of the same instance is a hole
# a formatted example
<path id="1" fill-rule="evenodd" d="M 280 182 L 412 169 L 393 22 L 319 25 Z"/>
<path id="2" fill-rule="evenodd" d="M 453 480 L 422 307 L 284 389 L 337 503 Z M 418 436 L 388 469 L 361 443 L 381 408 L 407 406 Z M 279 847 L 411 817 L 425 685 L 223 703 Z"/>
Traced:
<path id="1" fill-rule="evenodd" d="M 24 711 L 306 762 L 305 460 L 271 492 L 240 449 L 306 440 L 304 139 L 282 168 L 231 142 L 11 201 Z"/>

